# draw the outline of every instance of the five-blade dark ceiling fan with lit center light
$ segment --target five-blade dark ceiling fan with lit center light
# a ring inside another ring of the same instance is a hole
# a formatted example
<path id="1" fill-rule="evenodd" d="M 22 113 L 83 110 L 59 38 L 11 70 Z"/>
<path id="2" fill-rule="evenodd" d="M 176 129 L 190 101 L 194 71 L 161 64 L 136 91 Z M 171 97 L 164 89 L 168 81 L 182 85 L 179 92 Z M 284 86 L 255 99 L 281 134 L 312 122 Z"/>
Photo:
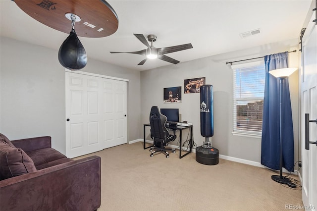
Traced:
<path id="1" fill-rule="evenodd" d="M 166 48 L 155 48 L 153 46 L 153 42 L 157 40 L 156 35 L 148 35 L 148 41 L 151 42 L 151 46 L 149 45 L 148 41 L 142 34 L 134 34 L 138 38 L 138 40 L 141 41 L 144 45 L 148 47 L 148 49 L 144 49 L 138 52 L 110 52 L 110 53 L 134 53 L 134 54 L 140 54 L 140 55 L 145 55 L 147 56 L 145 59 L 143 59 L 138 65 L 143 65 L 148 58 L 159 58 L 163 61 L 167 61 L 173 64 L 179 63 L 176 59 L 173 59 L 167 55 L 164 55 L 165 53 L 173 53 L 173 52 L 178 52 L 178 51 L 183 51 L 186 49 L 192 49 L 193 46 L 192 44 L 184 44 L 184 45 L 179 45 L 179 46 L 171 46 L 171 47 L 166 47 Z"/>

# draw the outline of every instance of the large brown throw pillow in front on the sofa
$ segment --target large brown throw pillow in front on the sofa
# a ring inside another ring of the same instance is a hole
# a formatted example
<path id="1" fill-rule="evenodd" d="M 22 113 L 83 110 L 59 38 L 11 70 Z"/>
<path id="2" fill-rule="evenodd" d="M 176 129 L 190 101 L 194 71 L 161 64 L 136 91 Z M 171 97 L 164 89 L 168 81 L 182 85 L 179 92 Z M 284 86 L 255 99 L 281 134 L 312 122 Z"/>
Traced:
<path id="1" fill-rule="evenodd" d="M 0 141 L 0 180 L 33 171 L 34 162 L 23 150 Z"/>

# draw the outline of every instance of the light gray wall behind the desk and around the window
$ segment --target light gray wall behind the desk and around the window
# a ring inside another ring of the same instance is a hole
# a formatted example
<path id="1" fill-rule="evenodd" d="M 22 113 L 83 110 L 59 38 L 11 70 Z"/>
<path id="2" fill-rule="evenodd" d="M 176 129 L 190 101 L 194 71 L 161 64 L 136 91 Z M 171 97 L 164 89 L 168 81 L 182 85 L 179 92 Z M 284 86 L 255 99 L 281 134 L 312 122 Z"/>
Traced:
<path id="1" fill-rule="evenodd" d="M 232 70 L 226 61 L 264 56 L 297 49 L 297 39 L 272 45 L 200 58 L 141 72 L 141 123 L 149 122 L 152 106 L 179 108 L 181 120 L 193 123 L 194 141 L 198 146 L 205 140 L 200 134 L 200 95 L 184 94 L 184 79 L 206 77 L 213 86 L 214 136 L 212 144 L 220 155 L 261 162 L 261 138 L 232 135 L 233 95 Z M 195 48 L 195 46 L 194 46 Z M 212 47 L 211 47 L 212 48 Z M 177 57 L 176 57 L 177 59 Z M 298 67 L 298 52 L 289 53 L 292 67 Z M 163 104 L 163 88 L 182 87 L 182 103 Z M 295 161 L 298 160 L 298 76 L 290 77 L 290 93 L 294 119 Z M 143 128 L 140 128 L 143 132 Z M 149 136 L 148 136 L 148 138 Z M 176 142 L 172 142 L 176 145 Z"/>

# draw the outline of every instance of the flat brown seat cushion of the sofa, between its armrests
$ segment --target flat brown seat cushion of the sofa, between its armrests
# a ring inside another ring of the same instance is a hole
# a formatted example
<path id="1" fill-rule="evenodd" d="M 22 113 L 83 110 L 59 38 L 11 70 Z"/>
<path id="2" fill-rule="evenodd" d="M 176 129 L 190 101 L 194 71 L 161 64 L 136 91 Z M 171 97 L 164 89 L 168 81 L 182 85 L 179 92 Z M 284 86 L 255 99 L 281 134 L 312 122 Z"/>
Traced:
<path id="1" fill-rule="evenodd" d="M 66 156 L 54 150 L 53 148 L 44 148 L 26 153 L 33 160 L 34 165 L 36 167 L 44 163 L 52 162 L 57 159 L 66 158 Z"/>

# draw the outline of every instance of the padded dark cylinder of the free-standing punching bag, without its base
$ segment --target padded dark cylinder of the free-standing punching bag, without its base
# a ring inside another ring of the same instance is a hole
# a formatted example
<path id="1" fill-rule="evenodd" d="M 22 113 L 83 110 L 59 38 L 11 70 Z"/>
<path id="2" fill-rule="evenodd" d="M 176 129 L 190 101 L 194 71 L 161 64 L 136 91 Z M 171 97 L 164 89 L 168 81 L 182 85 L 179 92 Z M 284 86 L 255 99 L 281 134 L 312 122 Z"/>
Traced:
<path id="1" fill-rule="evenodd" d="M 200 87 L 200 133 L 204 137 L 213 136 L 213 88 Z"/>

